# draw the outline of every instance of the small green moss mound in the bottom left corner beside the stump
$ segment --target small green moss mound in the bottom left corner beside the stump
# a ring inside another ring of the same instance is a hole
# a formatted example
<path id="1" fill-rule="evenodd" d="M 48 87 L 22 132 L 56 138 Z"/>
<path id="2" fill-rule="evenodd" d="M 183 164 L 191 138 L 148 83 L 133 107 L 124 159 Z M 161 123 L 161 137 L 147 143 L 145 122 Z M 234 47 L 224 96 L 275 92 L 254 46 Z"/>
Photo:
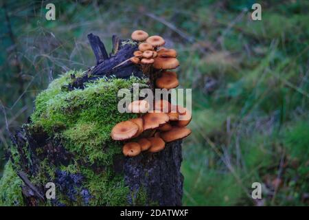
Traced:
<path id="1" fill-rule="evenodd" d="M 21 186 L 23 181 L 16 175 L 9 161 L 0 179 L 0 206 L 24 206 Z"/>

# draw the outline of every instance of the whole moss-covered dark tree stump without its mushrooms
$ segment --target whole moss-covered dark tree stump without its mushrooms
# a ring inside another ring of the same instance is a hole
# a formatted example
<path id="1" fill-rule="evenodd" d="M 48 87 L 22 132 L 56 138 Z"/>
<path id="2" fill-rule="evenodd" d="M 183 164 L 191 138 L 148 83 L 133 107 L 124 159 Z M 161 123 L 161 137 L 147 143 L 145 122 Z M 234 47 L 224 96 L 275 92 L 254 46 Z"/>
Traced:
<path id="1" fill-rule="evenodd" d="M 10 166 L 18 175 L 14 178 L 19 179 L 12 193 L 21 193 L 23 203 L 0 195 L 0 204 L 181 206 L 181 141 L 166 144 L 165 149 L 159 153 L 146 152 L 137 157 L 124 157 L 121 153 L 122 144 L 106 136 L 115 123 L 132 118 L 132 115 L 117 113 L 116 90 L 104 89 L 117 89 L 114 85 L 119 86 L 119 82 L 130 88 L 131 76 L 145 78 L 147 75 L 137 65 L 127 61 L 137 50 L 137 43 L 113 36 L 113 51 L 108 54 L 98 36 L 89 34 L 88 38 L 96 65 L 82 74 L 76 75 L 73 72 L 67 78 L 60 78 L 59 82 L 63 80 L 65 83 L 62 82 L 59 88 L 56 83 L 50 85 L 49 90 L 37 98 L 34 116 L 12 135 L 13 144 L 8 149 L 8 157 Z M 115 83 L 115 78 L 123 80 Z M 111 82 L 109 79 L 112 79 Z M 96 81 L 102 85 L 95 84 Z M 148 87 L 153 88 L 153 80 L 146 78 L 146 81 Z M 45 96 L 50 96 L 50 100 Z M 93 100 L 89 100 L 88 96 L 93 97 Z M 115 100 L 105 101 L 105 96 L 113 96 Z M 40 102 L 44 98 L 48 102 Z M 46 106 L 41 107 L 41 103 Z M 65 106 L 58 106 L 58 103 L 65 103 Z M 102 109 L 97 111 L 98 108 L 93 105 Z M 108 107 L 112 110 L 109 111 Z M 45 112 L 47 110 L 48 113 Z M 100 118 L 100 115 L 93 115 L 92 111 L 106 113 L 106 116 Z M 88 113 L 90 120 L 84 116 Z M 57 114 L 59 118 L 54 119 Z M 109 115 L 115 119 L 106 119 Z M 106 124 L 98 126 L 96 118 Z M 80 140 L 86 144 L 80 144 Z M 9 172 L 8 166 L 5 172 Z M 6 173 L 6 176 L 14 175 Z M 5 178 L 1 181 L 4 182 Z M 47 199 L 45 196 L 47 182 L 56 186 L 55 199 Z M 20 188 L 20 191 L 16 192 L 16 188 Z M 11 193 L 8 186 L 0 187 L 0 191 Z M 17 200 L 16 197 L 12 198 Z"/>

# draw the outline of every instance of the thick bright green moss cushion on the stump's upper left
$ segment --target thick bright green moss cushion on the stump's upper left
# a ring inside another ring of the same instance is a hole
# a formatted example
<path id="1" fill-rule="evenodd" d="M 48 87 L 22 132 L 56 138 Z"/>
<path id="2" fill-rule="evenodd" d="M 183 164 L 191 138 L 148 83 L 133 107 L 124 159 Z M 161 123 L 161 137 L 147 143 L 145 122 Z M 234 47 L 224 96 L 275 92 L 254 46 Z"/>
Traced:
<path id="1" fill-rule="evenodd" d="M 62 91 L 63 85 L 69 83 L 70 74 L 73 72 L 54 80 L 38 95 L 31 116 L 32 126 L 41 126 L 47 133 L 62 137 L 65 148 L 75 159 L 109 165 L 111 157 L 120 153 L 119 144 L 111 142 L 111 129 L 117 122 L 135 117 L 119 113 L 117 92 L 145 81 L 134 77 L 130 80 L 102 78 L 88 83 L 85 89 Z"/>

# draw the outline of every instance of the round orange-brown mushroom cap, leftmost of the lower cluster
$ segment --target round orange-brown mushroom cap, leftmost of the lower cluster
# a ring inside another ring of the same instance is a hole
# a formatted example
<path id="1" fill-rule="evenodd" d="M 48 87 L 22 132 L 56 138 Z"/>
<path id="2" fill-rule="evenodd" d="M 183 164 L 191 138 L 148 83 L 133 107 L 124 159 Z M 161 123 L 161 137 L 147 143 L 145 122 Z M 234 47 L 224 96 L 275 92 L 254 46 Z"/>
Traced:
<path id="1" fill-rule="evenodd" d="M 133 137 L 138 130 L 139 126 L 134 122 L 119 122 L 113 127 L 111 137 L 113 140 L 128 140 Z"/>

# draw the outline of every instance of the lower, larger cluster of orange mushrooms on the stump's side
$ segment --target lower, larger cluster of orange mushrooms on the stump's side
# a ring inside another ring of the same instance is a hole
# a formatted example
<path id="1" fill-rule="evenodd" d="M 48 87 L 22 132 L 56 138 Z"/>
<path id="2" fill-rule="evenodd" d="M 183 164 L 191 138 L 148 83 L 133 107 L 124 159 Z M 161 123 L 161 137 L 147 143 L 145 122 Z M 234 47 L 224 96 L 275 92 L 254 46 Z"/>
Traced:
<path id="1" fill-rule="evenodd" d="M 184 107 L 174 106 L 167 100 L 156 101 L 151 111 L 149 106 L 146 100 L 131 102 L 129 111 L 143 115 L 119 122 L 111 131 L 113 140 L 128 141 L 122 148 L 122 153 L 128 157 L 139 155 L 141 151 L 157 153 L 165 148 L 165 142 L 182 139 L 191 133 L 186 126 L 192 115 Z"/>

